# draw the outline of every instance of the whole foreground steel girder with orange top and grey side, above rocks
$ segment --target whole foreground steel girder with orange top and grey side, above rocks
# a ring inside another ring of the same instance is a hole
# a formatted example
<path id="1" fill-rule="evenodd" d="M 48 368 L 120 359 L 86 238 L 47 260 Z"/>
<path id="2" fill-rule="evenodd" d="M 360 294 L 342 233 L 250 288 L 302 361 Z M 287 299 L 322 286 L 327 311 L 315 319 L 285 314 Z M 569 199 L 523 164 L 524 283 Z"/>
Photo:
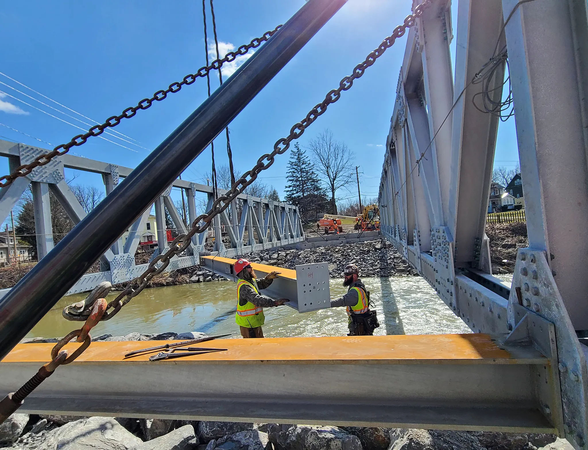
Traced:
<path id="1" fill-rule="evenodd" d="M 537 395 L 539 384 L 551 379 L 547 359 L 524 346 L 501 349 L 490 339 L 472 334 L 222 339 L 199 345 L 228 351 L 157 362 L 148 361 L 149 354 L 123 355 L 170 341 L 95 342 L 58 368 L 20 411 L 555 432 Z M 0 362 L 0 394 L 44 364 L 51 347 L 17 345 Z M 263 383 L 243 383 L 259 378 L 259 371 Z M 377 383 L 366 389 L 358 379 Z M 550 401 L 554 409 L 557 399 Z"/>

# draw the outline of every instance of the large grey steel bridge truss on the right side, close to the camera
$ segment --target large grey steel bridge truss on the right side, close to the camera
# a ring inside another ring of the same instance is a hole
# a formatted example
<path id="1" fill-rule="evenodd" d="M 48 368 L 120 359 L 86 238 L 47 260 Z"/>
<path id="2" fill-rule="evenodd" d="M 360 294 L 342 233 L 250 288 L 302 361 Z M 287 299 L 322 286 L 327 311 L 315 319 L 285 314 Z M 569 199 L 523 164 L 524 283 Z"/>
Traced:
<path id="1" fill-rule="evenodd" d="M 435 2 L 410 29 L 380 181 L 382 233 L 472 331 L 549 358 L 552 393 L 532 382 L 542 414 L 585 449 L 587 4 L 460 0 L 455 80 L 449 6 Z M 512 287 L 492 275 L 485 235 L 499 118 L 472 103 L 485 88 L 502 98 L 504 67 L 486 87 L 472 80 L 505 45 L 529 234 Z"/>

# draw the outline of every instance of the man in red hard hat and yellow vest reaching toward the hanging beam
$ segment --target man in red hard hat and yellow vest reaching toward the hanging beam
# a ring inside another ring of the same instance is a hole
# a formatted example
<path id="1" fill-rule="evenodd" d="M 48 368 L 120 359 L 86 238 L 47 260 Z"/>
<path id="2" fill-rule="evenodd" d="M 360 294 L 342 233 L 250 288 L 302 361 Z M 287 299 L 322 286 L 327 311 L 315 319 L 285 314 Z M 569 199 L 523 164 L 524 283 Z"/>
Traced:
<path id="1" fill-rule="evenodd" d="M 287 298 L 272 300 L 259 294 L 260 289 L 266 289 L 278 278 L 280 272 L 270 272 L 264 278 L 257 278 L 251 263 L 240 258 L 233 266 L 237 274 L 237 313 L 235 322 L 239 325 L 243 338 L 263 338 L 262 325 L 265 323 L 263 308 L 282 306 L 289 302 Z"/>

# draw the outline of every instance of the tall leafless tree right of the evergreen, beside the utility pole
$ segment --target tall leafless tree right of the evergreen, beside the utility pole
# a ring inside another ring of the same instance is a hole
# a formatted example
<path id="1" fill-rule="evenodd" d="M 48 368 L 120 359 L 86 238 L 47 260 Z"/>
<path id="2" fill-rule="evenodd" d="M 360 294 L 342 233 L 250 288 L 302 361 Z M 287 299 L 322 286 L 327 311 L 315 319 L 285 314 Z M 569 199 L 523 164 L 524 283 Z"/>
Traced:
<path id="1" fill-rule="evenodd" d="M 353 152 L 343 142 L 335 141 L 328 129 L 309 142 L 315 158 L 315 171 L 329 187 L 331 212 L 337 214 L 335 192 L 352 181 Z"/>

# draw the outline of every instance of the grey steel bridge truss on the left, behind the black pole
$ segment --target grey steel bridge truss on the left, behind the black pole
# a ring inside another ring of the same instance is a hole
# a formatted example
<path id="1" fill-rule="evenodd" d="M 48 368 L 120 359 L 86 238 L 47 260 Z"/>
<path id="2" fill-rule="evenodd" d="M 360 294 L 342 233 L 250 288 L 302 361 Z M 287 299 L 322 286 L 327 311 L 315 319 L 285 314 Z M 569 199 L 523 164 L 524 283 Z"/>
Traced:
<path id="1" fill-rule="evenodd" d="M 8 158 L 11 170 L 32 161 L 37 155 L 45 152 L 47 152 L 46 149 L 0 140 L 0 156 Z M 77 224 L 86 215 L 74 192 L 65 182 L 64 168 L 101 174 L 106 195 L 116 188 L 120 178 L 124 178 L 132 171 L 131 168 L 108 162 L 94 161 L 74 155 L 63 155 L 52 159 L 51 163 L 45 166 L 34 169 L 28 176 L 16 179 L 7 188 L 0 189 L 0 222 L 2 222 L 10 214 L 11 209 L 14 208 L 29 184 L 31 184 L 37 234 L 37 252 L 40 258 L 45 256 L 54 246 L 49 192 L 55 195 L 74 224 Z M 158 230 L 158 249 L 156 249 L 153 258 L 159 252 L 168 248 L 165 211 L 168 211 L 175 229 L 179 233 L 186 232 L 186 225 L 173 205 L 170 196 L 172 187 L 185 190 L 188 199 L 190 224 L 197 216 L 196 192 L 206 194 L 208 198 L 207 210 L 212 206 L 212 187 L 176 179 L 154 205 Z M 223 195 L 225 192 L 219 189 L 219 195 Z M 101 272 L 83 275 L 68 291 L 68 295 L 89 291 L 102 281 L 109 281 L 113 284 L 131 281 L 145 271 L 147 265 L 135 265 L 134 255 L 141 242 L 140 231 L 142 224 L 147 221 L 151 209 L 152 206 L 146 209 L 142 216 L 129 228 L 129 235 L 124 245 L 122 244 L 122 239 L 119 238 L 111 246 L 111 249 L 102 256 L 100 260 Z M 231 207 L 224 211 L 219 219 L 213 221 L 211 228 L 215 238 L 213 251 L 205 251 L 206 238 L 212 238 L 207 230 L 195 235 L 192 239 L 192 246 L 186 251 L 185 255 L 174 256 L 166 270 L 173 271 L 198 265 L 201 254 L 233 258 L 237 255 L 248 254 L 262 249 L 296 244 L 305 239 L 297 206 L 246 194 L 239 195 Z M 223 234 L 228 236 L 228 242 L 223 242 L 221 239 Z M 9 290 L 0 290 L 0 298 Z"/>

